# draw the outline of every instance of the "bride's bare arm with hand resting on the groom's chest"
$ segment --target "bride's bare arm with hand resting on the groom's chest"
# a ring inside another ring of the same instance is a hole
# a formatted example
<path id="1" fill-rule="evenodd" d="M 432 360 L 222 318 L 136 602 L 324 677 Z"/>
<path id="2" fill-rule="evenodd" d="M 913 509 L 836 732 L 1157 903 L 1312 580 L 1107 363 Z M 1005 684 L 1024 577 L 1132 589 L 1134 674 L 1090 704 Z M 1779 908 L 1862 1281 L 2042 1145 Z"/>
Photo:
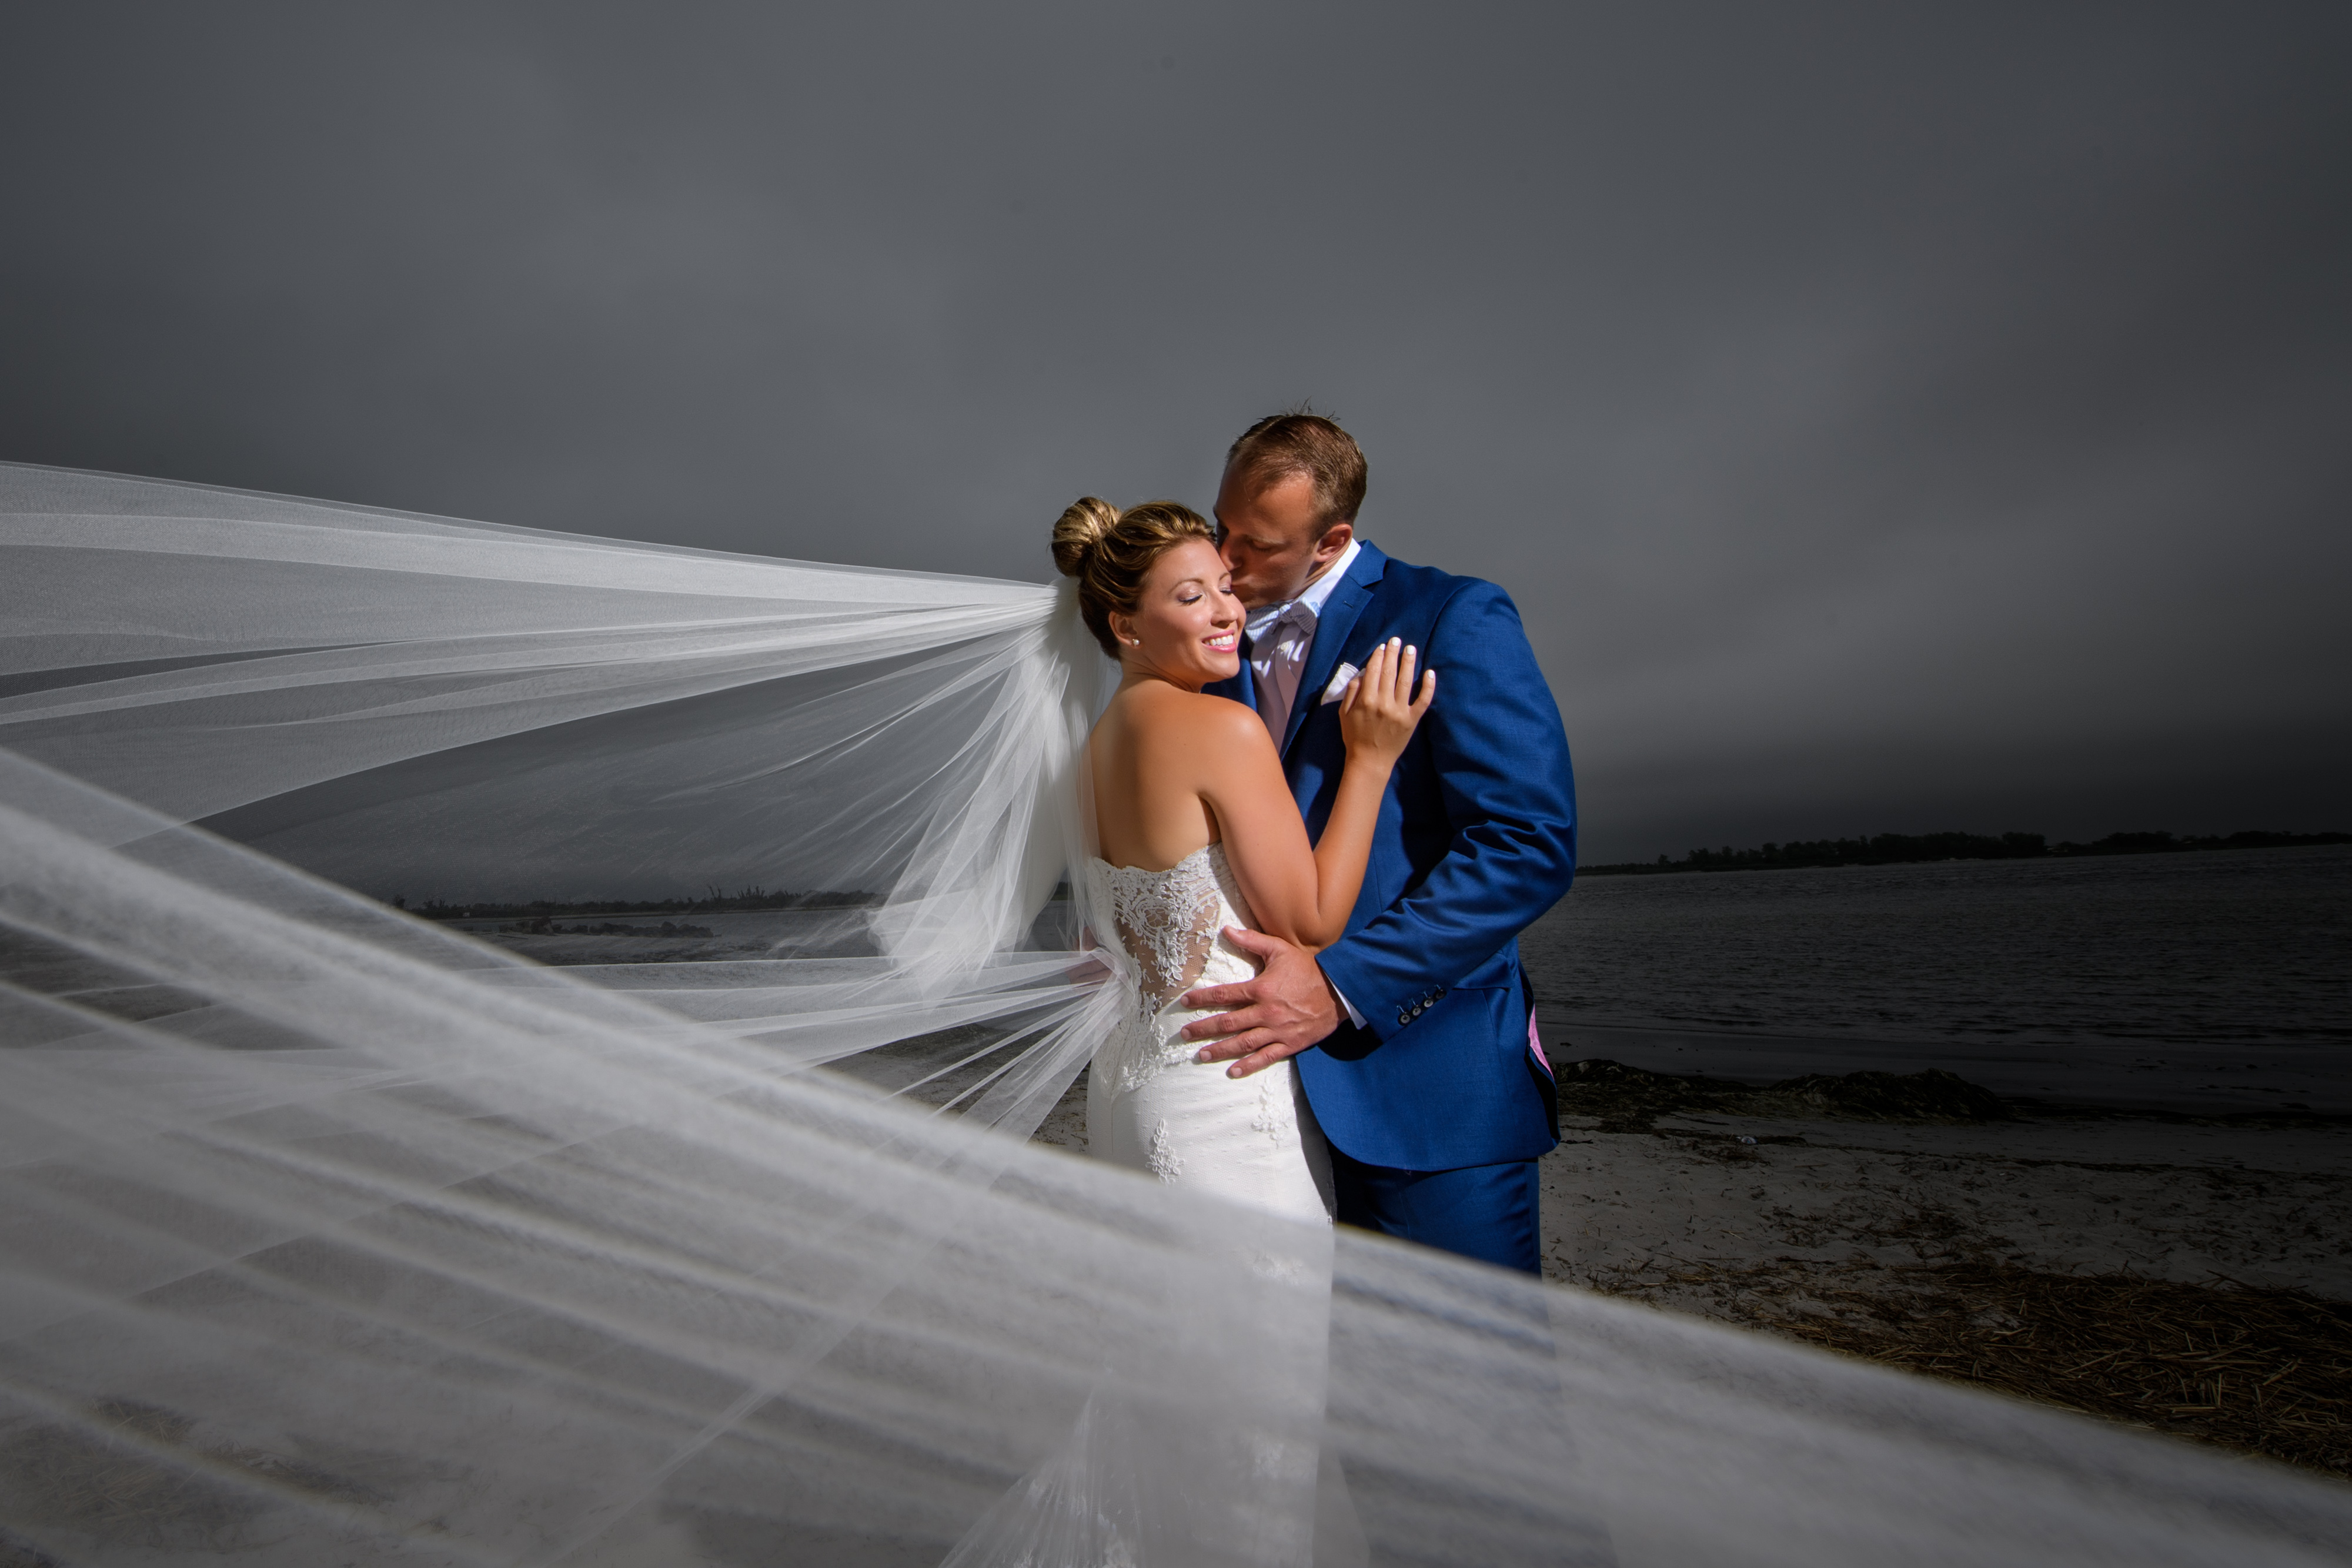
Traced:
<path id="1" fill-rule="evenodd" d="M 1228 736 L 1202 750 L 1202 799 L 1216 813 L 1225 860 L 1261 931 L 1301 947 L 1329 947 L 1348 929 L 1388 773 L 1437 691 L 1432 670 L 1416 701 L 1414 658 L 1414 649 L 1397 642 L 1378 646 L 1341 698 L 1348 766 L 1312 851 L 1265 724 L 1247 710 L 1218 717 Z"/>

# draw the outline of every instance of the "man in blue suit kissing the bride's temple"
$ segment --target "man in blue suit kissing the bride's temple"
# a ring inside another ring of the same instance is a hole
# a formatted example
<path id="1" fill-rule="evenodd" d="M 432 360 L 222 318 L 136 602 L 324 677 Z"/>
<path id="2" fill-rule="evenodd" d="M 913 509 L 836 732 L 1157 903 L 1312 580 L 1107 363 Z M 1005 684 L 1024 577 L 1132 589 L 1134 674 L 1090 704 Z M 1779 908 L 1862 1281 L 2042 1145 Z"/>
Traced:
<path id="1" fill-rule="evenodd" d="M 1437 703 L 1381 802 L 1364 891 L 1310 954 L 1256 931 L 1247 985 L 1207 985 L 1200 1060 L 1235 1077 L 1298 1058 L 1331 1143 L 1338 1220 L 1541 1274 L 1536 1157 L 1559 1143 L 1534 1051 L 1519 931 L 1576 875 L 1559 708 L 1494 583 L 1406 567 L 1355 538 L 1364 454 L 1317 414 L 1261 418 L 1225 454 L 1218 548 L 1249 609 L 1249 703 L 1319 837 L 1345 748 L 1336 698 L 1378 642 L 1437 670 Z"/>

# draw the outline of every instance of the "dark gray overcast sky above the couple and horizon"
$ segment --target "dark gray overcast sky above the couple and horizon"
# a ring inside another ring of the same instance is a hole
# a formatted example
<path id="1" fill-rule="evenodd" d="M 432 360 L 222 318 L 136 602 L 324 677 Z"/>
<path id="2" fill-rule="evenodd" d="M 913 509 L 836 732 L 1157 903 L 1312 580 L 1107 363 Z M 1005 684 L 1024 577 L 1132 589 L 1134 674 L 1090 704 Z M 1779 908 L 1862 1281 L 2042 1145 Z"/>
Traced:
<path id="1" fill-rule="evenodd" d="M 1042 581 L 1298 397 L 1588 858 L 2352 825 L 2352 9 L 19 5 L 0 456 Z"/>

